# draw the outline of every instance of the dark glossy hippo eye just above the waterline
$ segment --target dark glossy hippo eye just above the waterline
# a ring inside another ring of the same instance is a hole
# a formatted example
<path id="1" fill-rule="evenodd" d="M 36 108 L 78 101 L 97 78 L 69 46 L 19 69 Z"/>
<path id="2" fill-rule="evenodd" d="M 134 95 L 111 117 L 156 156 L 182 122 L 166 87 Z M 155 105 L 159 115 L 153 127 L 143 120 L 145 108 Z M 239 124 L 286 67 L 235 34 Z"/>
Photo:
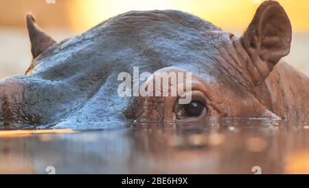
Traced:
<path id="1" fill-rule="evenodd" d="M 201 116 L 201 114 L 207 110 L 205 105 L 200 101 L 193 101 L 190 104 L 182 105 L 181 109 L 177 113 L 177 117 L 197 117 Z"/>

